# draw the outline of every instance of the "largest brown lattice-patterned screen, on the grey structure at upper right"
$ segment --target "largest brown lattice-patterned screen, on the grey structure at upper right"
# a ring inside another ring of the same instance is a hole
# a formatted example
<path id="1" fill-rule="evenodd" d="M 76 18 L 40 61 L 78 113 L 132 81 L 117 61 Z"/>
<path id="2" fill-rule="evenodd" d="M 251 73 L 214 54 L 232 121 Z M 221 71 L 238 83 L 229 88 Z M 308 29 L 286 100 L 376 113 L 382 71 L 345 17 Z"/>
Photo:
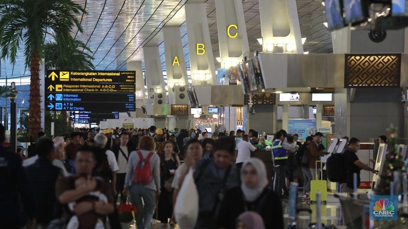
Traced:
<path id="1" fill-rule="evenodd" d="M 344 87 L 399 87 L 401 54 L 346 54 Z"/>

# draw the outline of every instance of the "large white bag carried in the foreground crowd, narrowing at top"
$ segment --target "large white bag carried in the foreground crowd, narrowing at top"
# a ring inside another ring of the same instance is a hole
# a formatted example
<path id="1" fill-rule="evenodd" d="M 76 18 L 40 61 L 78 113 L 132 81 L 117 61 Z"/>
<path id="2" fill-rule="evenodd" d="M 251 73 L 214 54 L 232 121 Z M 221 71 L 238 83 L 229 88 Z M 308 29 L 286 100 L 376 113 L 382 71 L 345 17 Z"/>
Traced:
<path id="1" fill-rule="evenodd" d="M 194 183 L 194 169 L 187 173 L 175 202 L 174 216 L 180 229 L 193 229 L 198 217 L 198 192 Z"/>

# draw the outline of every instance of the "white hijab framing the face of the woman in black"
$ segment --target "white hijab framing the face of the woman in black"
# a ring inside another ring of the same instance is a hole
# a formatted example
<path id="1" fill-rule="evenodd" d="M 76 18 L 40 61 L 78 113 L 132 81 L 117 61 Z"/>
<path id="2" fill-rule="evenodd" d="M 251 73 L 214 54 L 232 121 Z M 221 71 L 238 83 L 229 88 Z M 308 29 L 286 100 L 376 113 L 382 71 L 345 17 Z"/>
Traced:
<path id="1" fill-rule="evenodd" d="M 248 161 L 244 162 L 241 167 L 241 177 L 243 175 L 243 171 L 245 167 L 251 164 L 258 173 L 258 184 L 253 188 L 248 188 L 245 186 L 245 183 L 241 183 L 241 190 L 244 193 L 245 200 L 252 202 L 256 200 L 264 191 L 265 187 L 268 185 L 268 179 L 266 177 L 266 167 L 263 161 L 258 158 L 251 158 Z"/>

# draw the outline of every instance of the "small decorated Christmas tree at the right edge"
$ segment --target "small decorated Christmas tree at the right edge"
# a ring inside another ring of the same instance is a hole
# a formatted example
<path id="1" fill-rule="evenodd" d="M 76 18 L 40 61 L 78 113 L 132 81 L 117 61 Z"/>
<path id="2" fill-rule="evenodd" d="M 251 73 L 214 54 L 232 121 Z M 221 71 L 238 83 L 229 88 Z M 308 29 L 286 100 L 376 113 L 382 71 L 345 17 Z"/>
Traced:
<path id="1" fill-rule="evenodd" d="M 395 148 L 397 137 L 395 132 L 396 128 L 391 125 L 388 133 L 388 152 L 384 162 L 384 169 L 382 170 L 381 174 L 378 174 L 379 183 L 377 188 L 374 190 L 376 195 L 390 195 L 390 184 L 391 182 L 394 182 L 394 172 L 397 171 L 400 174 L 406 172 L 404 159 L 399 154 L 399 150 Z M 401 190 L 394 190 L 394 194 L 399 193 L 401 193 Z"/>

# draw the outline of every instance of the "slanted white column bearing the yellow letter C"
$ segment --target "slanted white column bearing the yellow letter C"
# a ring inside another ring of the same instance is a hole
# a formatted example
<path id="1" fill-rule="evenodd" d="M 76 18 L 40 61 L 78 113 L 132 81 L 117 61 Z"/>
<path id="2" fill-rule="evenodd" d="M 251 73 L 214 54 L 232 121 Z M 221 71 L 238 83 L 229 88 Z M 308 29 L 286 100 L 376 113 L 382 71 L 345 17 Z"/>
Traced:
<path id="1" fill-rule="evenodd" d="M 244 53 L 249 52 L 244 9 L 241 0 L 215 1 L 215 6 L 221 68 L 229 68 L 242 62 Z"/>

